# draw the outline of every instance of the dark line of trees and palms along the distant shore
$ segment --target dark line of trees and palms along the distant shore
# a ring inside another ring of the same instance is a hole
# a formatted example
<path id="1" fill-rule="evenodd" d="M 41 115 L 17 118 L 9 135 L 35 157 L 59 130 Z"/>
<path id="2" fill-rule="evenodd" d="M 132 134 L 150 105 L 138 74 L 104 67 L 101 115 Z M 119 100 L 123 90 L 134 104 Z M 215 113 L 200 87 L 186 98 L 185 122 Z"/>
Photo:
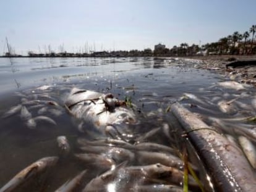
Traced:
<path id="1" fill-rule="evenodd" d="M 192 44 L 189 46 L 188 43 L 181 43 L 179 46 L 173 46 L 173 48 L 165 48 L 164 45 L 155 46 L 152 51 L 150 48 L 144 49 L 143 51 L 134 49 L 130 51 L 92 51 L 89 53 L 77 52 L 71 53 L 62 51 L 55 53 L 50 51 L 45 54 L 35 54 L 32 51 L 28 52 L 29 57 L 132 57 L 132 56 L 205 56 L 205 55 L 247 55 L 256 54 L 256 42 L 255 38 L 256 25 L 252 25 L 249 31 L 239 33 L 234 31 L 233 35 L 228 35 L 220 40 L 203 44 Z M 8 48 L 11 47 L 7 43 Z M 64 48 L 63 48 L 64 49 Z M 7 57 L 17 56 L 9 52 L 6 52 Z"/>

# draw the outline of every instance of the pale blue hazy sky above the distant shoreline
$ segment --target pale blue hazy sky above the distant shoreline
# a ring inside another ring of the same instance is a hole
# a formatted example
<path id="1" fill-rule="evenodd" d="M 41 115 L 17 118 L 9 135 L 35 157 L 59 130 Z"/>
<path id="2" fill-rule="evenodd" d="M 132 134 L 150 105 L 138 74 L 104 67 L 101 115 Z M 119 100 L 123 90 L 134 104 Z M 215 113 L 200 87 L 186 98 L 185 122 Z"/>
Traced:
<path id="1" fill-rule="evenodd" d="M 0 55 L 205 44 L 256 25 L 255 0 L 0 0 Z"/>

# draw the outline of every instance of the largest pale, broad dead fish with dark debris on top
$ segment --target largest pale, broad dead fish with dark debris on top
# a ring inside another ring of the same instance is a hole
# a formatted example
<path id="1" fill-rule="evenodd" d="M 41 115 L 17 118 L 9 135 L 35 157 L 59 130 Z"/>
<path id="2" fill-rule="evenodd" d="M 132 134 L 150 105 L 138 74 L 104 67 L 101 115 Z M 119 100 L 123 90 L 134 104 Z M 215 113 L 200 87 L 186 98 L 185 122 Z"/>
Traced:
<path id="1" fill-rule="evenodd" d="M 87 128 L 91 125 L 113 137 L 128 134 L 126 128 L 137 123 L 134 112 L 112 94 L 74 88 L 66 99 L 65 106 L 70 114 L 85 122 Z"/>

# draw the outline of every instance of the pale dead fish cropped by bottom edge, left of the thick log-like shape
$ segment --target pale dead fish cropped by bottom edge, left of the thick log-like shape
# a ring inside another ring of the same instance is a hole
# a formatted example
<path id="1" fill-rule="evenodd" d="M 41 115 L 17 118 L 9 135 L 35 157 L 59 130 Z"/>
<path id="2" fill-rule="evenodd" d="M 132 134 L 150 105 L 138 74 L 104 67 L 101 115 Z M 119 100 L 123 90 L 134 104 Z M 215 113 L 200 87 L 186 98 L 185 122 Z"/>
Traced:
<path id="1" fill-rule="evenodd" d="M 134 185 L 129 189 L 136 192 L 183 192 L 183 188 L 176 185 Z"/>

